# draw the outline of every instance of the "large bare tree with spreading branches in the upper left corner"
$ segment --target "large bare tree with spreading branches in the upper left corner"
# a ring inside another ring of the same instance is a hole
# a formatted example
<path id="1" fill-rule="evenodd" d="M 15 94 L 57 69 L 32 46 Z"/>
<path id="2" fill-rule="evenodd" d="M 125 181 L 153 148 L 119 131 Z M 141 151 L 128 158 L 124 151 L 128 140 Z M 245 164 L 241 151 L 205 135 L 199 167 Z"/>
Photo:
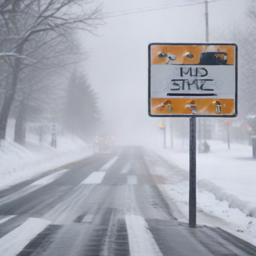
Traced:
<path id="1" fill-rule="evenodd" d="M 0 5 L 4 48 L 1 57 L 10 67 L 11 77 L 1 106 L 0 139 L 5 138 L 7 118 L 21 70 L 29 64 L 42 63 L 47 57 L 49 63 L 49 54 L 45 55 L 43 47 L 59 38 L 67 39 L 65 35 L 69 31 L 92 32 L 101 24 L 100 8 L 86 9 L 84 3 L 84 0 L 9 0 Z M 54 56 L 56 58 L 56 54 Z"/>

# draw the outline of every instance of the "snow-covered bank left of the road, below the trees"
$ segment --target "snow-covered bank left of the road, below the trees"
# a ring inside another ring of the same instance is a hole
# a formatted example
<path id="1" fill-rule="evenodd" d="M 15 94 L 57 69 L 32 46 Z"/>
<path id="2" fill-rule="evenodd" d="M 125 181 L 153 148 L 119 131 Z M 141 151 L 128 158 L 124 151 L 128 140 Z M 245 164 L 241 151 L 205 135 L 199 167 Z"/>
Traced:
<path id="1" fill-rule="evenodd" d="M 92 153 L 84 141 L 72 135 L 57 135 L 57 146 L 54 148 L 50 146 L 50 135 L 44 135 L 42 142 L 39 142 L 38 135 L 28 132 L 23 147 L 13 142 L 10 131 L 13 131 L 12 127 L 7 139 L 2 140 L 0 145 L 0 189 Z"/>

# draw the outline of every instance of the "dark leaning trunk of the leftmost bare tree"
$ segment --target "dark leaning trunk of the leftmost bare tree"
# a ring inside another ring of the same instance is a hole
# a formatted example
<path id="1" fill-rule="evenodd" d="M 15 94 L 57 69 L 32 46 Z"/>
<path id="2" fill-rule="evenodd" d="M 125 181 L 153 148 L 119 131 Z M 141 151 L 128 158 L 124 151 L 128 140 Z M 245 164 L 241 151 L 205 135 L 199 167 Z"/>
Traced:
<path id="1" fill-rule="evenodd" d="M 23 46 L 20 45 L 16 53 L 21 54 L 22 48 Z M 10 107 L 14 99 L 14 95 L 17 87 L 17 80 L 18 80 L 18 73 L 20 71 L 20 65 L 21 65 L 20 58 L 15 58 L 14 67 L 12 69 L 12 79 L 11 79 L 10 87 L 5 94 L 1 112 L 0 112 L 0 139 L 5 139 L 7 120 L 8 120 Z"/>

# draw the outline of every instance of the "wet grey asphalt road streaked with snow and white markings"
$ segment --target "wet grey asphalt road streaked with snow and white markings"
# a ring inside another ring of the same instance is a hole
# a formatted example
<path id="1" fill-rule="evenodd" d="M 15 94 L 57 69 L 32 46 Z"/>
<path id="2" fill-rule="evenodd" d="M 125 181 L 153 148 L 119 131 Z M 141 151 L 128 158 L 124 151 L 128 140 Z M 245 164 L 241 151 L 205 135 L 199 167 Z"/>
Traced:
<path id="1" fill-rule="evenodd" d="M 226 231 L 178 221 L 146 154 L 123 147 L 0 191 L 0 255 L 256 255 Z"/>

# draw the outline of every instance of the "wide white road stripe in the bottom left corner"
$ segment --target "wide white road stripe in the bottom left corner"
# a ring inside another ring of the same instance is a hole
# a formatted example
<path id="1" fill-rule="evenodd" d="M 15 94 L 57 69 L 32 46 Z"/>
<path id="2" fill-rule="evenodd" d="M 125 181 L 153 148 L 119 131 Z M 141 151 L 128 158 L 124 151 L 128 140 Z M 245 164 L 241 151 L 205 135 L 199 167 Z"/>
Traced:
<path id="1" fill-rule="evenodd" d="M 0 255 L 15 256 L 50 223 L 51 221 L 41 218 L 28 218 L 0 238 Z"/>

